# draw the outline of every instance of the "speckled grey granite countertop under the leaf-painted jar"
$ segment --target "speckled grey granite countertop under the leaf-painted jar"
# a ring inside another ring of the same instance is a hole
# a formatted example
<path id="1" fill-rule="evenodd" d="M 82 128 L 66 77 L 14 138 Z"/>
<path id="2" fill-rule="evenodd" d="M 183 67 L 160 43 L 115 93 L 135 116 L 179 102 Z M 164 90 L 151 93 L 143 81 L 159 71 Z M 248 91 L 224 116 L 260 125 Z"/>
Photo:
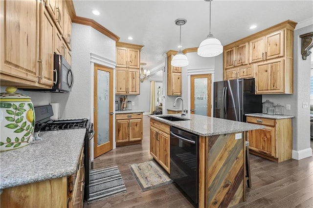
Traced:
<path id="1" fill-rule="evenodd" d="M 73 175 L 86 129 L 45 131 L 41 141 L 0 153 L 0 188 Z"/>

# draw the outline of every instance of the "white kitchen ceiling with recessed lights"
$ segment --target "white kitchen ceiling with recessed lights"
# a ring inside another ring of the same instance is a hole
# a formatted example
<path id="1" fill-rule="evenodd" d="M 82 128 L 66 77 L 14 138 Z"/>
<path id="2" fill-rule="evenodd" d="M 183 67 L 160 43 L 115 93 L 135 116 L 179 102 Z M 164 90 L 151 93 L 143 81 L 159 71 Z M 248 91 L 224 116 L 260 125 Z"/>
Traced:
<path id="1" fill-rule="evenodd" d="M 120 42 L 144 45 L 140 62 L 146 69 L 164 65 L 165 53 L 198 47 L 209 33 L 209 2 L 204 0 L 73 0 L 77 16 L 93 19 L 120 37 Z M 98 10 L 99 16 L 92 14 Z M 313 23 L 313 0 L 214 0 L 211 33 L 223 45 L 286 20 Z M 249 29 L 256 24 L 257 28 Z M 313 29 L 313 28 L 312 28 Z M 132 41 L 128 40 L 132 36 Z"/>

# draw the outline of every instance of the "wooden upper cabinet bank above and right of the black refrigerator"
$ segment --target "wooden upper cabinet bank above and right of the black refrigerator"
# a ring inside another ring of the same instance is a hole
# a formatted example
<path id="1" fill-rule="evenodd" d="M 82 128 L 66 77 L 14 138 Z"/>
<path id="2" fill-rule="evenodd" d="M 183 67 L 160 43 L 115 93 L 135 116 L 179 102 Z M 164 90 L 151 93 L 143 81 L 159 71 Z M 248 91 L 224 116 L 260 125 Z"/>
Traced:
<path id="1" fill-rule="evenodd" d="M 224 80 L 255 78 L 256 94 L 292 94 L 293 30 L 296 24 L 284 21 L 225 45 Z M 243 66 L 238 67 L 237 46 L 242 46 L 241 54 L 246 51 L 245 57 L 249 57 L 246 62 L 240 61 Z"/>

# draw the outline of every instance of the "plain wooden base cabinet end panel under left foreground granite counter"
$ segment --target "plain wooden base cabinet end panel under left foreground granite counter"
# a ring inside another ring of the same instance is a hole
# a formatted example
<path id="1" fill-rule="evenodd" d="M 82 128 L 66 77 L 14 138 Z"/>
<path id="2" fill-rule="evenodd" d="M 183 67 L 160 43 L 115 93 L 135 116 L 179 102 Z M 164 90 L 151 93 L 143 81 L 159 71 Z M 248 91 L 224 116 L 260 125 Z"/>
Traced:
<path id="1" fill-rule="evenodd" d="M 4 188 L 1 208 L 67 208 L 67 176 Z"/>

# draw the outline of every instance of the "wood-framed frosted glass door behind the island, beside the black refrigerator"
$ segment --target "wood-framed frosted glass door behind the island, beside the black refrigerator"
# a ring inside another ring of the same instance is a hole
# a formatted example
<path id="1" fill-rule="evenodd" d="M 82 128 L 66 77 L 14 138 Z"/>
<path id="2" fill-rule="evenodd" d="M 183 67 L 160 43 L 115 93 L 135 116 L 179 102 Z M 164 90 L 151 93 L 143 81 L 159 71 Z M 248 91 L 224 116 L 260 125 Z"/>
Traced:
<path id="1" fill-rule="evenodd" d="M 191 75 L 191 113 L 211 116 L 211 74 Z"/>

